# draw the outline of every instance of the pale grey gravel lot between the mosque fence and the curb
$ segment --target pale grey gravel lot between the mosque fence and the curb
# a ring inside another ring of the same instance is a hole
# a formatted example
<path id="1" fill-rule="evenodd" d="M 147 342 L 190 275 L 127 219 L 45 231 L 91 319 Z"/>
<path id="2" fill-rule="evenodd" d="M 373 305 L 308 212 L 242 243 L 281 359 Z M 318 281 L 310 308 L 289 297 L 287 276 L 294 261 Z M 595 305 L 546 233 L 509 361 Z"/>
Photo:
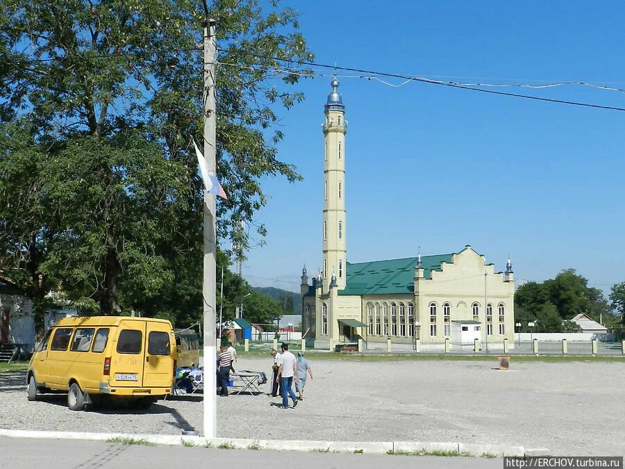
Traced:
<path id="1" fill-rule="evenodd" d="M 495 359 L 494 359 L 495 360 Z M 269 359 L 238 369 L 269 372 Z M 218 436 L 335 441 L 460 441 L 544 446 L 556 455 L 625 454 L 625 363 L 311 361 L 306 400 L 217 398 Z M 268 384 L 263 386 L 268 391 Z M 0 375 L 0 428 L 179 434 L 201 431 L 201 396 L 149 411 L 67 409 L 65 395 L 28 402 L 24 375 Z"/>

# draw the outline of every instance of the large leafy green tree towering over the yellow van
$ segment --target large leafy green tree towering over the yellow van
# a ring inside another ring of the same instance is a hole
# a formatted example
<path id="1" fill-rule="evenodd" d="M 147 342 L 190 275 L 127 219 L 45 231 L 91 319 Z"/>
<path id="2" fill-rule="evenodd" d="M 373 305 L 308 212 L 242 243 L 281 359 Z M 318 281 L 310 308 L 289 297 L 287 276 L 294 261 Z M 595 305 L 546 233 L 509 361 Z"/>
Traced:
<path id="1" fill-rule="evenodd" d="M 277 3 L 209 5 L 217 174 L 228 192 L 217 231 L 239 256 L 250 235 L 238 220 L 265 204 L 263 177 L 300 178 L 276 157 L 274 124 L 278 107 L 302 99 L 288 90 L 301 75 L 284 73 L 281 59 L 312 55 L 297 13 Z M 201 256 L 190 142 L 202 135 L 203 19 L 190 0 L 0 0 L 0 135 L 15 140 L 0 152 L 0 266 L 10 277 L 104 314 L 181 313 L 178 295 L 163 291 L 184 289 L 181 270 Z"/>

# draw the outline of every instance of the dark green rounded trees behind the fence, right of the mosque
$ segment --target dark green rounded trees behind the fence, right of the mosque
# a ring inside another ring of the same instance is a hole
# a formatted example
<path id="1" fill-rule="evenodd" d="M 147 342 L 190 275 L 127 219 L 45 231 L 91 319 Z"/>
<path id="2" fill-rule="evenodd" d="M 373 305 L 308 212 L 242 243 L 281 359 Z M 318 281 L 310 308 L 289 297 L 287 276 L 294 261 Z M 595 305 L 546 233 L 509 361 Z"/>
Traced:
<path id="1" fill-rule="evenodd" d="M 555 279 L 542 283 L 524 283 L 515 293 L 515 322 L 522 332 L 572 332 L 578 327 L 570 321 L 575 315 L 587 314 L 594 320 L 609 318 L 610 306 L 599 288 L 574 269 L 562 270 Z M 528 327 L 528 322 L 535 327 Z"/>

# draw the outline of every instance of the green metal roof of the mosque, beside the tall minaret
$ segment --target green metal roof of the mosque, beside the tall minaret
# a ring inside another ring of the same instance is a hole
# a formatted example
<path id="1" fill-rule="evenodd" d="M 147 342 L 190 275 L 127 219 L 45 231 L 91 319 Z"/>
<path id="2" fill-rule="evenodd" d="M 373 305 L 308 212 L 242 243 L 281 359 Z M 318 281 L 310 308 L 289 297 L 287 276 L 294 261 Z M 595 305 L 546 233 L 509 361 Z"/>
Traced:
<path id="1" fill-rule="evenodd" d="M 451 263 L 452 256 L 421 256 L 425 278 L 431 279 L 433 270 L 440 271 L 441 263 Z M 415 291 L 416 257 L 346 264 L 347 286 L 339 290 L 339 295 L 390 295 Z"/>

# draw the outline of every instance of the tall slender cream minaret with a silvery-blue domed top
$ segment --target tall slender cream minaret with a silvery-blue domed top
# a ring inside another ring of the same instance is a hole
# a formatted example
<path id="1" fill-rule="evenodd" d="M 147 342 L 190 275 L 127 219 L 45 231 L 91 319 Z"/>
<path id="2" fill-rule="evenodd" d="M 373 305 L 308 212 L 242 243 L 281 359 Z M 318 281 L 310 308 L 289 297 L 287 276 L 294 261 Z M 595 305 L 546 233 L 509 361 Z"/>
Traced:
<path id="1" fill-rule="evenodd" d="M 347 220 L 345 212 L 345 108 L 338 92 L 338 80 L 326 102 L 324 131 L 324 266 L 323 277 L 336 274 L 336 286 L 345 288 Z"/>

